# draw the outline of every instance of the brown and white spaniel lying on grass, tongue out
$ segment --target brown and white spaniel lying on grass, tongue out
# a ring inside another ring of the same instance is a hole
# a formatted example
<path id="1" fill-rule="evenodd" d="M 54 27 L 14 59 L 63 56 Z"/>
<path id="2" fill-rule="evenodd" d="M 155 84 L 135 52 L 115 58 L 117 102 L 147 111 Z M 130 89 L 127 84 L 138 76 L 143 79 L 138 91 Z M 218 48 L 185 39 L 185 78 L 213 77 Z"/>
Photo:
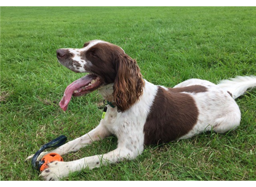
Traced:
<path id="1" fill-rule="evenodd" d="M 234 130 L 241 121 L 235 99 L 256 87 L 256 76 L 237 76 L 217 85 L 189 79 L 174 88 L 157 86 L 143 79 L 135 59 L 121 47 L 102 40 L 86 42 L 81 49 L 58 49 L 57 59 L 76 73 L 89 73 L 66 88 L 61 109 L 67 111 L 72 96 L 95 90 L 106 107 L 97 128 L 51 152 L 75 152 L 110 135 L 118 138 L 118 146 L 102 155 L 49 163 L 41 173 L 44 180 L 60 180 L 71 172 L 133 160 L 145 145 L 187 139 L 205 131 Z"/>

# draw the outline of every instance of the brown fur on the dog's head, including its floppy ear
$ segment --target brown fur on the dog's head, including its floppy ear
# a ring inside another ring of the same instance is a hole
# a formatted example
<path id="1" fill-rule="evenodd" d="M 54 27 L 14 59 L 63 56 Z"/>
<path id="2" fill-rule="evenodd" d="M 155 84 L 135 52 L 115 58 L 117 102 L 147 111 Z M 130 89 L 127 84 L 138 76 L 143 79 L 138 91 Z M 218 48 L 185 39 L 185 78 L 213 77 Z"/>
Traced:
<path id="1" fill-rule="evenodd" d="M 114 83 L 112 103 L 118 112 L 125 112 L 142 95 L 144 80 L 135 59 L 123 52 L 117 45 L 100 43 L 81 52 L 81 58 L 90 61 L 93 66 L 86 66 L 93 74 L 104 79 L 106 84 Z"/>

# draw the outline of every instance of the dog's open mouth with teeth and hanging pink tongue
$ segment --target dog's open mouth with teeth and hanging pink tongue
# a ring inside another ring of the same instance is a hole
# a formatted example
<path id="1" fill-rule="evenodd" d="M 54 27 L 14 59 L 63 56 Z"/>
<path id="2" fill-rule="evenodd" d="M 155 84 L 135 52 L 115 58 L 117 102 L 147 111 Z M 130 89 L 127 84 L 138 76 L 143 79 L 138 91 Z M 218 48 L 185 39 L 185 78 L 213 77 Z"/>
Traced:
<path id="1" fill-rule="evenodd" d="M 97 90 L 102 84 L 103 80 L 99 76 L 93 74 L 77 79 L 66 88 L 64 96 L 60 101 L 60 108 L 63 109 L 63 111 L 67 111 L 72 96 L 78 97 L 89 94 L 90 92 Z"/>

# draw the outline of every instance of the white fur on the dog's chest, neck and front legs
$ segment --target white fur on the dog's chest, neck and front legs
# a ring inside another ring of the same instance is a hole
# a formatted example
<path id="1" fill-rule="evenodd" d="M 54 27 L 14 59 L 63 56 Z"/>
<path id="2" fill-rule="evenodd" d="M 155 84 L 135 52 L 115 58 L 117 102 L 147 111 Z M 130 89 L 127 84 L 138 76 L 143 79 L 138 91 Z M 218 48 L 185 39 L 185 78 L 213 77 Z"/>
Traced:
<path id="1" fill-rule="evenodd" d="M 118 113 L 117 108 L 112 108 L 108 105 L 106 116 L 96 129 L 51 152 L 56 152 L 60 155 L 75 152 L 92 144 L 94 141 L 100 141 L 112 134 L 118 138 L 118 148 L 116 150 L 104 155 L 90 156 L 73 162 L 58 162 L 57 165 L 56 162 L 53 162 L 49 164 L 48 169 L 42 172 L 41 176 L 45 180 L 59 180 L 68 176 L 70 172 L 82 171 L 85 168 L 93 169 L 101 165 L 117 163 L 123 159 L 132 160 L 142 154 L 144 150 L 144 124 L 158 90 L 157 86 L 146 80 L 145 84 L 143 96 L 139 103 L 134 104 L 124 113 Z M 99 89 L 104 99 L 106 99 L 105 96 L 113 92 L 113 87 L 110 85 Z"/>

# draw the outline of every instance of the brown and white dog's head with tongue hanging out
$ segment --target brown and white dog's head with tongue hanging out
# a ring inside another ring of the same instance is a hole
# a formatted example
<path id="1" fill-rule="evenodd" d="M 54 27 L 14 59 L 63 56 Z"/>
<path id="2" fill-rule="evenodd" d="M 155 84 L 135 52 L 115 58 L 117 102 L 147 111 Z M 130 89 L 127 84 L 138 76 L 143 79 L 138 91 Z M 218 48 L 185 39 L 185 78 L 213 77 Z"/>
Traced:
<path id="1" fill-rule="evenodd" d="M 66 88 L 60 102 L 64 111 L 72 96 L 82 96 L 111 83 L 114 83 L 113 103 L 118 111 L 126 111 L 142 95 L 144 80 L 137 62 L 117 45 L 92 40 L 81 49 L 58 49 L 57 58 L 76 73 L 89 73 Z"/>

